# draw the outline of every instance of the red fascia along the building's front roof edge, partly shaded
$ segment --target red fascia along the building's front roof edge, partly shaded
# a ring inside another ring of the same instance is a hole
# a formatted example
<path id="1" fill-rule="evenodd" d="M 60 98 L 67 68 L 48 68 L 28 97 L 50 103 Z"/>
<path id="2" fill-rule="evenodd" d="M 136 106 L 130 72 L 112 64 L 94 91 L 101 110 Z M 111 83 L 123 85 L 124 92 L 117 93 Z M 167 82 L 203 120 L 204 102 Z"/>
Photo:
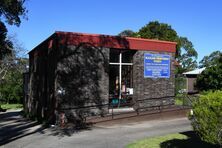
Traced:
<path id="1" fill-rule="evenodd" d="M 95 47 L 176 52 L 176 42 L 73 32 L 56 32 L 56 35 L 59 44 L 65 45 L 88 43 Z"/>

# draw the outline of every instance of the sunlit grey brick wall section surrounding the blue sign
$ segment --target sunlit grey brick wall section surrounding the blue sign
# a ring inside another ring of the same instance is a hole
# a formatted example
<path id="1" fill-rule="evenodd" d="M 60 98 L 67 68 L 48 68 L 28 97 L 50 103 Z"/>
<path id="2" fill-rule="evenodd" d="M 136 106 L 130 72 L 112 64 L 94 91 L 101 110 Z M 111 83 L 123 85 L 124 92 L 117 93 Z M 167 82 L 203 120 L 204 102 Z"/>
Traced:
<path id="1" fill-rule="evenodd" d="M 144 53 L 171 55 L 170 78 L 145 78 Z M 164 52 L 137 51 L 133 57 L 134 108 L 147 108 L 156 105 L 174 104 L 175 67 L 174 54 Z"/>

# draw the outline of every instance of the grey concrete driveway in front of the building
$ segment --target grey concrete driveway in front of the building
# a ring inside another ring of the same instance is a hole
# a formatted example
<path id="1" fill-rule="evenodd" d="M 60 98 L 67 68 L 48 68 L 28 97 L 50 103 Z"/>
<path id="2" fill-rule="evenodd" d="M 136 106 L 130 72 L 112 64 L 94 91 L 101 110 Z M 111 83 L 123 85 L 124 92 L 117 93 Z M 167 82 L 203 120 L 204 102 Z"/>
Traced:
<path id="1" fill-rule="evenodd" d="M 21 132 L 15 134 L 17 138 L 13 139 L 11 137 L 11 140 L 2 143 L 1 145 L 4 148 L 121 148 L 128 143 L 145 137 L 191 130 L 187 118 L 176 118 L 126 123 L 124 125 L 117 124 L 108 127 L 100 125 L 70 135 L 67 133 L 61 134 L 54 128 L 43 129 L 35 123 L 24 121 L 16 112 L 8 115 L 10 115 L 9 118 L 1 118 L 0 114 L 0 141 L 4 140 L 2 137 L 5 137 L 2 133 L 7 134 L 8 131 L 9 135 L 12 134 L 13 127 L 15 131 L 16 128 L 20 127 Z M 19 127 L 17 127 L 17 123 Z M 22 128 L 22 124 L 26 125 L 27 128 Z M 8 127 L 10 128 L 7 129 Z"/>

